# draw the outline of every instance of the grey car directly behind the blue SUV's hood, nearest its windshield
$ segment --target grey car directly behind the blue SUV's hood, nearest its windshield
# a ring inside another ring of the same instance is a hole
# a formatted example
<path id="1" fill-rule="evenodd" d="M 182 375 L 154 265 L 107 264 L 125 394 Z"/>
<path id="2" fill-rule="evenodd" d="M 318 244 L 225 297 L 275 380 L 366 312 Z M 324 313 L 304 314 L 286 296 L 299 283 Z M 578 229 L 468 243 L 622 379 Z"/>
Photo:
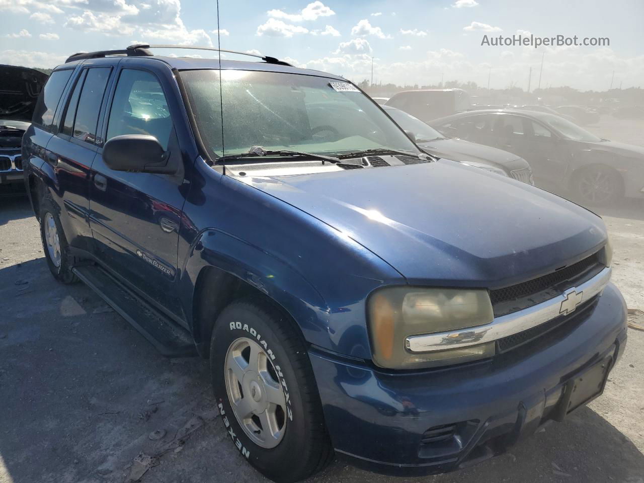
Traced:
<path id="1" fill-rule="evenodd" d="M 416 144 L 430 155 L 455 161 L 479 169 L 485 169 L 501 176 L 515 178 L 524 183 L 534 184 L 532 170 L 527 161 L 512 153 L 495 147 L 474 144 L 462 139 L 447 138 L 425 122 L 392 106 L 383 106 L 384 111 L 395 120 Z"/>

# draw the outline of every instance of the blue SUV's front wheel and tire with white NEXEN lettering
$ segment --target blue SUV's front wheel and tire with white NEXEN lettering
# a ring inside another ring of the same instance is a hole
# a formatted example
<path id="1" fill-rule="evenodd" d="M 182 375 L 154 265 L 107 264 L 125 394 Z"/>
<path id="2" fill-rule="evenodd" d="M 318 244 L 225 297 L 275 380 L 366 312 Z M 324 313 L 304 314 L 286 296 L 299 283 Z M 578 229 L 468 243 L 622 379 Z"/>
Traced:
<path id="1" fill-rule="evenodd" d="M 290 483 L 332 457 L 307 349 L 267 301 L 237 301 L 218 317 L 211 375 L 228 438 L 266 477 Z"/>

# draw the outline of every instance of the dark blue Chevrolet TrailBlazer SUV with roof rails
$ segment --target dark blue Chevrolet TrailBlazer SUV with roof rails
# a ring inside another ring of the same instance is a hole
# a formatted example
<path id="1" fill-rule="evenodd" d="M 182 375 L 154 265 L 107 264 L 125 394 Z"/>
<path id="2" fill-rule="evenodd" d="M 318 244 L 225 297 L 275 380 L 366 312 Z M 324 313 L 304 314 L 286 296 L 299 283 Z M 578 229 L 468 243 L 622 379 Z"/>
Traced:
<path id="1" fill-rule="evenodd" d="M 449 471 L 600 395 L 626 309 L 599 216 L 432 162 L 342 77 L 151 48 L 53 71 L 30 200 L 56 279 L 209 359 L 240 457 Z"/>

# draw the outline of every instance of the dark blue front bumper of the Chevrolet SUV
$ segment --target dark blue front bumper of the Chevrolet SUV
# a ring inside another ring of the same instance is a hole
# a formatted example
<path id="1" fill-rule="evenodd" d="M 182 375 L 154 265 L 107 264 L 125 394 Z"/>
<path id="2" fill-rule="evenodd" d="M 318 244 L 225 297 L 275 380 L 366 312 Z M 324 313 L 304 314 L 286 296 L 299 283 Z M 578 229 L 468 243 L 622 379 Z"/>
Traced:
<path id="1" fill-rule="evenodd" d="M 620 292 L 609 284 L 595 304 L 574 324 L 477 364 L 385 372 L 311 350 L 334 448 L 396 474 L 451 471 L 501 453 L 560 419 L 569 381 L 622 354 Z"/>

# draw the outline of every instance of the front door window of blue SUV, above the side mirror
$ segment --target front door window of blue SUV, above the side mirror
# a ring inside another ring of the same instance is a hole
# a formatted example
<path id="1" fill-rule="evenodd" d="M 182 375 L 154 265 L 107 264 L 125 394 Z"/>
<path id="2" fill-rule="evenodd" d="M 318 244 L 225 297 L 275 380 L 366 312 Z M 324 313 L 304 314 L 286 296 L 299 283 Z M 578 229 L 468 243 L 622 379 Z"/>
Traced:
<path id="1" fill-rule="evenodd" d="M 147 134 L 167 149 L 172 119 L 166 95 L 154 75 L 142 70 L 124 69 L 118 77 L 109 112 L 108 137 Z"/>

